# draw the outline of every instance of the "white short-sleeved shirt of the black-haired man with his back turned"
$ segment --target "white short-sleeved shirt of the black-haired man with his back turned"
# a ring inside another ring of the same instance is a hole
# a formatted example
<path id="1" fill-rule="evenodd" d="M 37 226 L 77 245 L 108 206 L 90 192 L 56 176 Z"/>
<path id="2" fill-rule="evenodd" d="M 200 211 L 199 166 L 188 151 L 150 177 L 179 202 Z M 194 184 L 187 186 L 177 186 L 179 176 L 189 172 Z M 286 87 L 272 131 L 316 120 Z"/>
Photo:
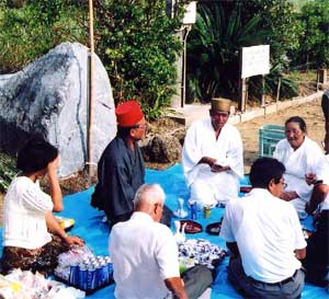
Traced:
<path id="1" fill-rule="evenodd" d="M 263 283 L 291 277 L 300 268 L 294 251 L 306 248 L 294 207 L 263 188 L 228 203 L 220 237 L 237 242 L 245 273 Z"/>

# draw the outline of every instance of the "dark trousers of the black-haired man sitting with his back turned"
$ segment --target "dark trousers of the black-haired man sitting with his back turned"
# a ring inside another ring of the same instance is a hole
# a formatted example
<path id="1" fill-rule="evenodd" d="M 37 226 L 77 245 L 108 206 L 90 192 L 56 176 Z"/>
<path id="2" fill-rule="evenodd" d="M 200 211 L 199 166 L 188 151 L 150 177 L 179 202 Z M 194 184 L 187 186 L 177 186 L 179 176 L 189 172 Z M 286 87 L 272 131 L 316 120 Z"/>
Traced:
<path id="1" fill-rule="evenodd" d="M 228 280 L 245 298 L 300 298 L 305 274 L 302 269 L 282 283 L 266 284 L 254 280 L 245 274 L 241 258 L 232 258 L 228 265 Z"/>

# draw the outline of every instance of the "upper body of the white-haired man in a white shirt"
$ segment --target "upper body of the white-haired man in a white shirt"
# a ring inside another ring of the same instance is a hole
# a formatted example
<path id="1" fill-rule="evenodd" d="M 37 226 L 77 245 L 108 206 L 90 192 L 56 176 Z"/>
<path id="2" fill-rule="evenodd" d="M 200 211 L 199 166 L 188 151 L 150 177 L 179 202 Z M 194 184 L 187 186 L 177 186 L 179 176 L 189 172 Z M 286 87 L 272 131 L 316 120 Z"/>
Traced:
<path id="1" fill-rule="evenodd" d="M 134 214 L 118 222 L 110 235 L 115 298 L 163 299 L 172 291 L 186 299 L 179 272 L 178 248 L 172 232 L 159 223 L 164 204 L 162 188 L 141 185 L 134 199 Z"/>

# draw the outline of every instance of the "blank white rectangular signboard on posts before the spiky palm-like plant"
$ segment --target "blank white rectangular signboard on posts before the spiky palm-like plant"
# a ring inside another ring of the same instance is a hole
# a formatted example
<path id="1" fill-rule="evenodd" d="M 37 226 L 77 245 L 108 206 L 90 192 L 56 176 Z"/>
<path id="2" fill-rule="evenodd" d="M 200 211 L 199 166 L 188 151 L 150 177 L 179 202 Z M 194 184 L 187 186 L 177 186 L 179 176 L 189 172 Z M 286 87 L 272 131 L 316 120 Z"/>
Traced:
<path id="1" fill-rule="evenodd" d="M 242 48 L 241 78 L 270 72 L 270 46 L 253 46 Z"/>

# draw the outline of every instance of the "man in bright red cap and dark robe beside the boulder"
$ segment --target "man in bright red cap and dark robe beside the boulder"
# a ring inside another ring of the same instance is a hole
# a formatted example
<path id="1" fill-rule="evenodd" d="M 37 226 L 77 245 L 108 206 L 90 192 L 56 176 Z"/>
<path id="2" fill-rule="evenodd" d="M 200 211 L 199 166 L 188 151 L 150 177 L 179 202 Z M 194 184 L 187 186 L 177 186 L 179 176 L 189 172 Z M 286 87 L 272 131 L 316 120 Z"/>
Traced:
<path id="1" fill-rule="evenodd" d="M 117 134 L 98 164 L 99 183 L 91 205 L 103 209 L 110 222 L 131 218 L 136 191 L 144 184 L 145 166 L 137 141 L 145 138 L 146 122 L 139 104 L 128 101 L 116 110 Z"/>

